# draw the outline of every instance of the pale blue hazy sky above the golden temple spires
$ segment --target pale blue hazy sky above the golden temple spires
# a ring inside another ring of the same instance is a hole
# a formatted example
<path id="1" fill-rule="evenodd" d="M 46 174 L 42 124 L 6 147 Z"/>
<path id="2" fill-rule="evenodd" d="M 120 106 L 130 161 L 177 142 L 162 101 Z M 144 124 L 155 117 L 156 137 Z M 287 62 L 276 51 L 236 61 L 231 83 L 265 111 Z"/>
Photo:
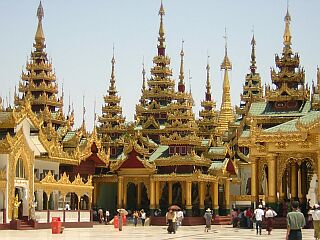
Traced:
<path id="1" fill-rule="evenodd" d="M 30 56 L 37 27 L 38 0 L 0 1 L 0 95 L 13 96 L 22 69 Z M 115 45 L 116 85 L 127 120 L 133 120 L 141 95 L 142 59 L 147 77 L 157 53 L 160 0 L 43 0 L 43 29 L 47 53 L 57 80 L 74 103 L 76 127 L 82 121 L 85 94 L 86 122 L 93 125 L 94 102 L 101 115 L 103 95 L 109 86 L 112 45 Z M 184 39 L 185 76 L 191 71 L 192 93 L 198 117 L 204 98 L 207 52 L 210 55 L 214 99 L 220 108 L 224 56 L 224 29 L 228 34 L 232 104 L 239 105 L 245 74 L 249 72 L 250 41 L 254 26 L 257 66 L 262 82 L 270 83 L 274 54 L 283 47 L 286 0 L 163 0 L 167 54 L 173 78 L 178 80 L 181 40 Z M 290 0 L 293 50 L 301 56 L 306 82 L 316 80 L 320 64 L 319 0 Z M 189 88 L 189 87 L 188 87 Z M 5 101 L 6 102 L 6 101 Z"/>

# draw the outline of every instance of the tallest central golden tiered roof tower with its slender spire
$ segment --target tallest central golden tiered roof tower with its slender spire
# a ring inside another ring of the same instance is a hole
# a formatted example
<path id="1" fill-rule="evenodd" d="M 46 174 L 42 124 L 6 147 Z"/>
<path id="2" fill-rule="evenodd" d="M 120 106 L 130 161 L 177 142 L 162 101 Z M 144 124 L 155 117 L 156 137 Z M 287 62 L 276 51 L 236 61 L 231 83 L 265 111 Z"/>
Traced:
<path id="1" fill-rule="evenodd" d="M 164 8 L 161 3 L 159 10 L 160 28 L 158 37 L 158 54 L 153 58 L 154 67 L 151 69 L 151 78 L 147 81 L 147 88 L 143 90 L 141 99 L 136 106 L 136 129 L 159 143 L 159 135 L 168 122 L 169 105 L 175 97 L 175 82 L 171 79 L 172 71 L 169 68 L 170 58 L 166 56 L 165 33 L 163 26 Z"/>

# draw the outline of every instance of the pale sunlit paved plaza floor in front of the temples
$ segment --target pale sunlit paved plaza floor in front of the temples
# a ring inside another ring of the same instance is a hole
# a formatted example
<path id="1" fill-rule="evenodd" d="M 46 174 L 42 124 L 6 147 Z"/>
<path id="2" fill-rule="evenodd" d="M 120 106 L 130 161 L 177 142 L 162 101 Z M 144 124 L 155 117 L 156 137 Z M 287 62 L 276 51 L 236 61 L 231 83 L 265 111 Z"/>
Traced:
<path id="1" fill-rule="evenodd" d="M 3 230 L 0 231 L 1 240 L 95 240 L 95 239 L 285 239 L 285 229 L 276 229 L 271 236 L 263 231 L 261 236 L 256 236 L 255 231 L 248 229 L 234 229 L 230 226 L 213 226 L 209 233 L 204 232 L 204 226 L 183 226 L 176 234 L 168 234 L 166 227 L 124 227 L 122 232 L 113 226 L 95 225 L 93 228 L 69 228 L 63 234 L 52 235 L 50 229 L 44 230 Z M 303 239 L 313 239 L 313 230 L 303 230 Z"/>

